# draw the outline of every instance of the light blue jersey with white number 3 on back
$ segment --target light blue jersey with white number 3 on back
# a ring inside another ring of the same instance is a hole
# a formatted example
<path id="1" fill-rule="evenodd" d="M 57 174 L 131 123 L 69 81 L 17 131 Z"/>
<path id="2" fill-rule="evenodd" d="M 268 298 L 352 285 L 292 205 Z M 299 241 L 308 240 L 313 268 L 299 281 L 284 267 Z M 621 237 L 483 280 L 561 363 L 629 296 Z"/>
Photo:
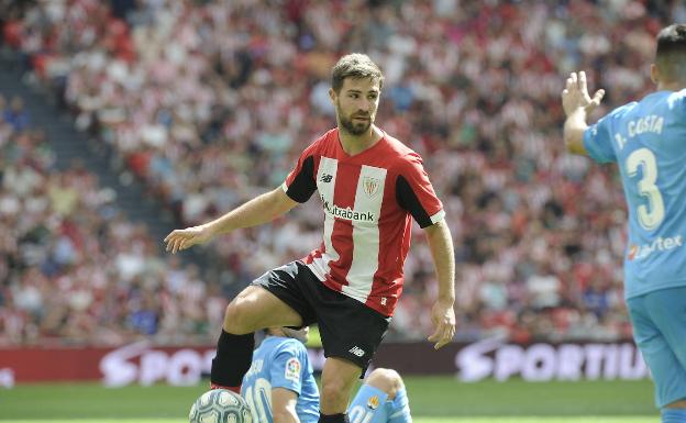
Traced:
<path id="1" fill-rule="evenodd" d="M 613 110 L 586 130 L 584 145 L 619 166 L 629 209 L 624 297 L 686 286 L 686 89 Z"/>

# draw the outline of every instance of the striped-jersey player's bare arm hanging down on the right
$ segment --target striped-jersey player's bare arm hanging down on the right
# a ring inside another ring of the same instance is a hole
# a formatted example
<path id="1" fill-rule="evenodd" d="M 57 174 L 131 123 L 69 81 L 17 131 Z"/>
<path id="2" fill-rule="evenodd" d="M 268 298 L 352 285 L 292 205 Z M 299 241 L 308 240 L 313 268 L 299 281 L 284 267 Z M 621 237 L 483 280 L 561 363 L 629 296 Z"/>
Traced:
<path id="1" fill-rule="evenodd" d="M 429 341 L 439 349 L 455 335 L 455 254 L 453 237 L 444 220 L 424 229 L 439 280 L 439 298 L 431 309 L 434 331 Z"/>

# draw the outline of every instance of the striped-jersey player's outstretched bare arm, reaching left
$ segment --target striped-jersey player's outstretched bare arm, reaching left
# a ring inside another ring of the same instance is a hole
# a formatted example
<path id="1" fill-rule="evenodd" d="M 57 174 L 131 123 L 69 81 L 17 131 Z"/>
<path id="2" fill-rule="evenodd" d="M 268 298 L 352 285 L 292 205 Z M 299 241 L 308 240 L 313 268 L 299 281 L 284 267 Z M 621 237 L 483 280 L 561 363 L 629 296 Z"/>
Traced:
<path id="1" fill-rule="evenodd" d="M 196 244 L 204 244 L 217 235 L 270 222 L 297 204 L 280 187 L 276 188 L 211 222 L 172 232 L 164 240 L 166 249 L 175 254 Z"/>

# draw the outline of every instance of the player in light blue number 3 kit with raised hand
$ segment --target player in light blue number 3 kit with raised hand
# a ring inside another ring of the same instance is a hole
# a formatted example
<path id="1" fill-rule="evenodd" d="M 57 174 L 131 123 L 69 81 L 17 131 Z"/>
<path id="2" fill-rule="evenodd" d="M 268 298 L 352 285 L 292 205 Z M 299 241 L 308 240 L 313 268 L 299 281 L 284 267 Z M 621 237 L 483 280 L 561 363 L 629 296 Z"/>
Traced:
<path id="1" fill-rule="evenodd" d="M 655 381 L 664 423 L 686 422 L 686 25 L 657 35 L 651 79 L 657 90 L 588 126 L 586 75 L 562 92 L 572 153 L 617 163 L 629 209 L 624 298 L 633 337 Z"/>

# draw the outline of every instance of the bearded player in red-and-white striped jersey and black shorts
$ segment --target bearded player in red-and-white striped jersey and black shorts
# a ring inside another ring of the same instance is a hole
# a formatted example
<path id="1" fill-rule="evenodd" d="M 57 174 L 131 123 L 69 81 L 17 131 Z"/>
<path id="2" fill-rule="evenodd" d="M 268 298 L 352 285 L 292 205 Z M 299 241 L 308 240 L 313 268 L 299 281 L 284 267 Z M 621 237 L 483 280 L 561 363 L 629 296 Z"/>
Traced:
<path id="1" fill-rule="evenodd" d="M 338 127 L 302 152 L 281 187 L 206 224 L 165 238 L 176 253 L 274 220 L 317 191 L 323 241 L 306 257 L 267 271 L 226 308 L 212 361 L 215 387 L 239 390 L 251 365 L 254 332 L 318 323 L 327 361 L 320 422 L 342 423 L 355 379 L 364 375 L 402 291 L 411 220 L 424 230 L 438 298 L 431 310 L 435 348 L 455 333 L 453 242 L 421 157 L 375 125 L 384 85 L 363 54 L 342 57 L 329 91 Z"/>

